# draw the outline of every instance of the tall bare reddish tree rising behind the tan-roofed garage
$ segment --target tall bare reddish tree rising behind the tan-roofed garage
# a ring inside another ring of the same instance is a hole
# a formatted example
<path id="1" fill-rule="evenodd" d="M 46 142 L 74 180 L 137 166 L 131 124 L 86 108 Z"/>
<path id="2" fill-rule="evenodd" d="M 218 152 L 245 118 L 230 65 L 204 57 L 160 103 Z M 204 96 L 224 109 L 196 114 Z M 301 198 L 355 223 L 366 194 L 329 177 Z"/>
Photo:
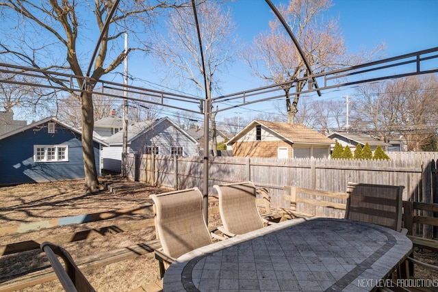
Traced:
<path id="1" fill-rule="evenodd" d="M 326 19 L 323 13 L 331 7 L 331 0 L 294 0 L 289 5 L 281 5 L 279 12 L 289 24 L 296 40 L 300 44 L 312 72 L 334 70 L 341 66 L 352 65 L 352 62 L 363 61 L 366 53 L 358 56 L 346 56 L 344 38 L 338 27 L 337 19 Z M 380 51 L 376 49 L 371 54 Z M 360 56 L 360 57 L 359 57 Z M 279 21 L 270 22 L 270 31 L 259 34 L 254 43 L 243 55 L 255 75 L 268 82 L 285 83 L 285 105 L 287 122 L 294 123 L 298 112 L 300 92 L 306 81 L 292 83 L 309 75 L 298 49 Z M 295 93 L 290 93 L 292 86 Z M 291 98 L 291 95 L 294 95 Z"/>

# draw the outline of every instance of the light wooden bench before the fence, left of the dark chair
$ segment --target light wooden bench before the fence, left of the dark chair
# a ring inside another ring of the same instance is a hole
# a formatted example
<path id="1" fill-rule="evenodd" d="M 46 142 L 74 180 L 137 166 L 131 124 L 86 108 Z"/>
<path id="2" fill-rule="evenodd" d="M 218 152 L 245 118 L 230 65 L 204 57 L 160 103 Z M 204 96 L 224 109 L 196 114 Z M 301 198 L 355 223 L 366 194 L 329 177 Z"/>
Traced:
<path id="1" fill-rule="evenodd" d="M 346 210 L 347 194 L 336 191 L 322 191 L 320 189 L 308 189 L 306 187 L 296 187 L 286 185 L 284 187 L 286 191 L 289 191 L 289 195 L 283 196 L 283 199 L 290 202 L 290 211 L 296 217 L 313 217 L 315 213 L 302 213 L 296 211 L 297 203 L 310 204 L 313 207 L 325 207 L 331 209 L 337 209 L 339 211 Z M 302 196 L 307 195 L 307 197 Z M 335 202 L 335 200 L 342 202 Z"/>

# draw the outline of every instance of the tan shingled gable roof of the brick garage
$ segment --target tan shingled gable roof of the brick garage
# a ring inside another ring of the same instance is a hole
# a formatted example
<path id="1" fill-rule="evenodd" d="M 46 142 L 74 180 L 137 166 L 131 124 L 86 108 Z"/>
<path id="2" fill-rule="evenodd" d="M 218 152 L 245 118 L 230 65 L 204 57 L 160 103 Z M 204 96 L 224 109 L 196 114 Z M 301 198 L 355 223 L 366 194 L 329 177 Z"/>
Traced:
<path id="1" fill-rule="evenodd" d="M 287 122 L 268 122 L 266 120 L 253 120 L 242 131 L 237 133 L 229 140 L 227 144 L 233 144 L 240 139 L 243 135 L 248 133 L 250 129 L 253 129 L 257 124 L 262 127 L 270 129 L 277 135 L 283 137 L 285 140 L 291 143 L 302 144 L 333 144 L 333 140 L 329 139 L 322 133 L 306 127 L 304 124 L 289 124 Z"/>

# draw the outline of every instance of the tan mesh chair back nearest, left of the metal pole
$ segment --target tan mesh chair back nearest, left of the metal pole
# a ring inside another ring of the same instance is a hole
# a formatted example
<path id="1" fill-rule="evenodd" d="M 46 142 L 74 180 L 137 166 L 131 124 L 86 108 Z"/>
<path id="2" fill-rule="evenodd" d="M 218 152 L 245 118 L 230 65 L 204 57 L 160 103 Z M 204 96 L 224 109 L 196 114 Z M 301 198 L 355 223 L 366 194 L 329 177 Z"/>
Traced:
<path id="1" fill-rule="evenodd" d="M 203 194 L 197 187 L 151 195 L 155 228 L 163 252 L 177 258 L 211 243 L 202 211 Z"/>

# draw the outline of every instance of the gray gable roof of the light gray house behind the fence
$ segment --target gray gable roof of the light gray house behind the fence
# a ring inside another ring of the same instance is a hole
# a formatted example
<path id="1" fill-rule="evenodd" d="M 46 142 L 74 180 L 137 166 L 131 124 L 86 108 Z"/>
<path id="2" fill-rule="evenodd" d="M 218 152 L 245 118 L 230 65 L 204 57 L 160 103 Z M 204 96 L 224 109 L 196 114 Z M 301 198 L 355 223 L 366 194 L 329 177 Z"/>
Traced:
<path id="1" fill-rule="evenodd" d="M 186 131 L 181 129 L 180 127 L 175 124 L 175 122 L 172 122 L 168 117 L 160 118 L 158 120 L 146 120 L 144 122 L 132 122 L 131 124 L 128 124 L 128 141 L 127 144 L 131 143 L 133 140 L 136 140 L 140 135 L 143 135 L 150 129 L 153 129 L 154 127 L 157 127 L 159 124 L 161 124 L 164 121 L 170 122 L 173 127 L 178 129 L 183 135 L 186 135 L 190 140 L 192 140 L 194 143 L 198 143 L 194 137 L 189 135 Z M 105 139 L 105 142 L 107 144 L 123 144 L 123 131 L 118 131 L 114 135 L 108 137 Z"/>

